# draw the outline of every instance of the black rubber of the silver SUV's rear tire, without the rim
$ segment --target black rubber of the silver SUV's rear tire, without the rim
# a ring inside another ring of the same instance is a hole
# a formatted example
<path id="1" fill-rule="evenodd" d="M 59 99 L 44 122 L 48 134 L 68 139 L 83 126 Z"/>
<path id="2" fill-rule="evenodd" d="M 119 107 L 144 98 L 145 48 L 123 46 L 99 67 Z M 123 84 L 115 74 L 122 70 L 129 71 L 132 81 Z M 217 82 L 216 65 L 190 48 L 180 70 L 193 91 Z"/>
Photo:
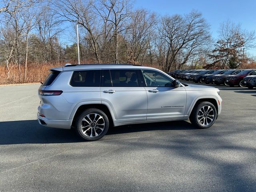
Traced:
<path id="1" fill-rule="evenodd" d="M 89 114 L 98 114 L 98 115 L 102 116 L 102 119 L 104 120 L 104 129 L 102 130 L 102 132 L 100 132 L 100 134 L 98 136 L 96 136 L 96 133 L 97 133 L 97 131 L 99 133 L 100 129 L 95 129 L 94 128 L 94 129 L 89 130 L 89 132 L 92 131 L 92 135 L 94 135 L 93 137 L 86 136 L 81 130 L 82 120 L 83 120 L 83 118 L 85 118 Z M 99 110 L 99 109 L 96 109 L 96 108 L 89 108 L 89 109 L 84 110 L 84 112 L 82 112 L 82 114 L 80 114 L 76 118 L 76 122 L 75 122 L 75 126 L 74 126 L 78 136 L 80 136 L 81 138 L 83 138 L 86 141 L 99 140 L 100 138 L 102 138 L 108 132 L 108 127 L 109 127 L 108 116 L 102 110 Z"/>

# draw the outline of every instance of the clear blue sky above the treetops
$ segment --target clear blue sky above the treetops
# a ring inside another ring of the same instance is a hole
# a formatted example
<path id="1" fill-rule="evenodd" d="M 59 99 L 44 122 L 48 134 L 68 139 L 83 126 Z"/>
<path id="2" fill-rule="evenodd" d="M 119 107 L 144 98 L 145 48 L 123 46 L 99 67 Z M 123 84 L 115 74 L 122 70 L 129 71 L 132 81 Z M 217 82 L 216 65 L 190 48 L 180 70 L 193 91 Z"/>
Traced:
<path id="1" fill-rule="evenodd" d="M 220 23 L 230 20 L 243 29 L 256 30 L 256 0 L 136 0 L 134 8 L 146 8 L 160 15 L 201 12 L 211 25 L 213 38 L 218 38 Z M 248 50 L 256 56 L 256 49 Z"/>

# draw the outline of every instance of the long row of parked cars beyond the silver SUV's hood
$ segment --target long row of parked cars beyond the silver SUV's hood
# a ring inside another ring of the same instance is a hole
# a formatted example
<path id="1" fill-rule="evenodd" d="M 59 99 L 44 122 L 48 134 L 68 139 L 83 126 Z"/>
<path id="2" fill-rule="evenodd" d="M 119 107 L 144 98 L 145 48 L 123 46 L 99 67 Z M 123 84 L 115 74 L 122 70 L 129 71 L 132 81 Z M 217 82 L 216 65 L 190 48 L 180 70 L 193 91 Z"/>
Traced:
<path id="1" fill-rule="evenodd" d="M 168 73 L 180 80 L 226 86 L 256 87 L 256 69 L 175 70 Z"/>

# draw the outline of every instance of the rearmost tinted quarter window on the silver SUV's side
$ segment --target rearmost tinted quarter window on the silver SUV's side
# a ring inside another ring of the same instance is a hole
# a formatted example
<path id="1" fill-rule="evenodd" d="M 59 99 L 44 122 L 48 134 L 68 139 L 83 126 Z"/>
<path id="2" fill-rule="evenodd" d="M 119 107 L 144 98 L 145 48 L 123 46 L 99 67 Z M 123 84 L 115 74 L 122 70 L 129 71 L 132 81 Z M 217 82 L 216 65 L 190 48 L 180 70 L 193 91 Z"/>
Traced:
<path id="1" fill-rule="evenodd" d="M 100 70 L 74 71 L 70 85 L 73 87 L 99 87 Z"/>

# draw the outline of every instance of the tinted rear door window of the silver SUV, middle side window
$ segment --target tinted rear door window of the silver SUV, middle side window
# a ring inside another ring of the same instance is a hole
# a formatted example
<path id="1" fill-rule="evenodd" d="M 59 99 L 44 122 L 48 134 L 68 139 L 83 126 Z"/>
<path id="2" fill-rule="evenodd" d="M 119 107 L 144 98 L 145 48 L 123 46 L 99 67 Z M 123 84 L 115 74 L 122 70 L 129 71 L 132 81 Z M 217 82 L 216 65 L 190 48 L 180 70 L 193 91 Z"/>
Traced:
<path id="1" fill-rule="evenodd" d="M 138 87 L 136 70 L 113 69 L 110 70 L 113 87 Z"/>

